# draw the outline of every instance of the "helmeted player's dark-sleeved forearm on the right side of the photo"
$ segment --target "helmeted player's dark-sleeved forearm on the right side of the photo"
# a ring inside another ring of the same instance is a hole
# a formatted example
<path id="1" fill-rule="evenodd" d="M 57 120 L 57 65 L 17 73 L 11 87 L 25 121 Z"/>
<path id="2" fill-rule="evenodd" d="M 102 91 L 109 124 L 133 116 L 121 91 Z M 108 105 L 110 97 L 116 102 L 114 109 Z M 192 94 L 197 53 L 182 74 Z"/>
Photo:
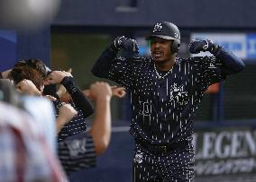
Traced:
<path id="1" fill-rule="evenodd" d="M 216 58 L 220 59 L 223 62 L 225 74 L 239 73 L 245 67 L 239 57 L 233 55 L 231 51 L 226 50 L 222 47 L 217 47 L 214 55 L 216 56 Z"/>

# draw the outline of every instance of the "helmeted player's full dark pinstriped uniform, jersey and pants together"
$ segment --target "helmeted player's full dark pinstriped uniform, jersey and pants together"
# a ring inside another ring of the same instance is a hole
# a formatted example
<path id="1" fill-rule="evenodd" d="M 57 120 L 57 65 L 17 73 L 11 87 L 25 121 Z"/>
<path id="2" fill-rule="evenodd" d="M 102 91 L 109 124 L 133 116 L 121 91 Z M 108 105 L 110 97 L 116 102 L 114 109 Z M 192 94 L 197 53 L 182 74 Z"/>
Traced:
<path id="1" fill-rule="evenodd" d="M 172 70 L 160 73 L 151 58 L 112 62 L 108 79 L 131 93 L 130 132 L 136 140 L 151 144 L 192 140 L 193 119 L 204 91 L 224 80 L 221 61 L 215 56 L 177 58 Z M 139 181 L 192 181 L 192 145 L 168 155 L 148 152 L 140 144 L 134 150 L 133 167 Z"/>

